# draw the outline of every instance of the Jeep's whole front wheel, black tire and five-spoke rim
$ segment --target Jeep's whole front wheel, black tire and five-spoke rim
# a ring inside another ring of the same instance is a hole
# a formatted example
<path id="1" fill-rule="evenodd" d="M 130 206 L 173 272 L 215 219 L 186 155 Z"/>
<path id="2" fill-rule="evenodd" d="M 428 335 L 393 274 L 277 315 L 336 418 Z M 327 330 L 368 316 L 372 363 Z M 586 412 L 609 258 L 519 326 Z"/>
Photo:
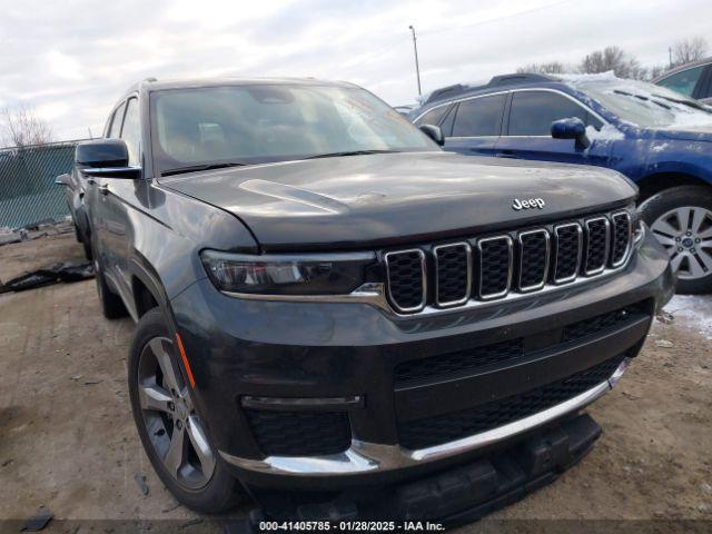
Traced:
<path id="1" fill-rule="evenodd" d="M 244 491 L 210 446 L 178 362 L 162 313 L 151 309 L 129 352 L 134 419 L 154 469 L 176 498 L 198 512 L 226 512 Z"/>

